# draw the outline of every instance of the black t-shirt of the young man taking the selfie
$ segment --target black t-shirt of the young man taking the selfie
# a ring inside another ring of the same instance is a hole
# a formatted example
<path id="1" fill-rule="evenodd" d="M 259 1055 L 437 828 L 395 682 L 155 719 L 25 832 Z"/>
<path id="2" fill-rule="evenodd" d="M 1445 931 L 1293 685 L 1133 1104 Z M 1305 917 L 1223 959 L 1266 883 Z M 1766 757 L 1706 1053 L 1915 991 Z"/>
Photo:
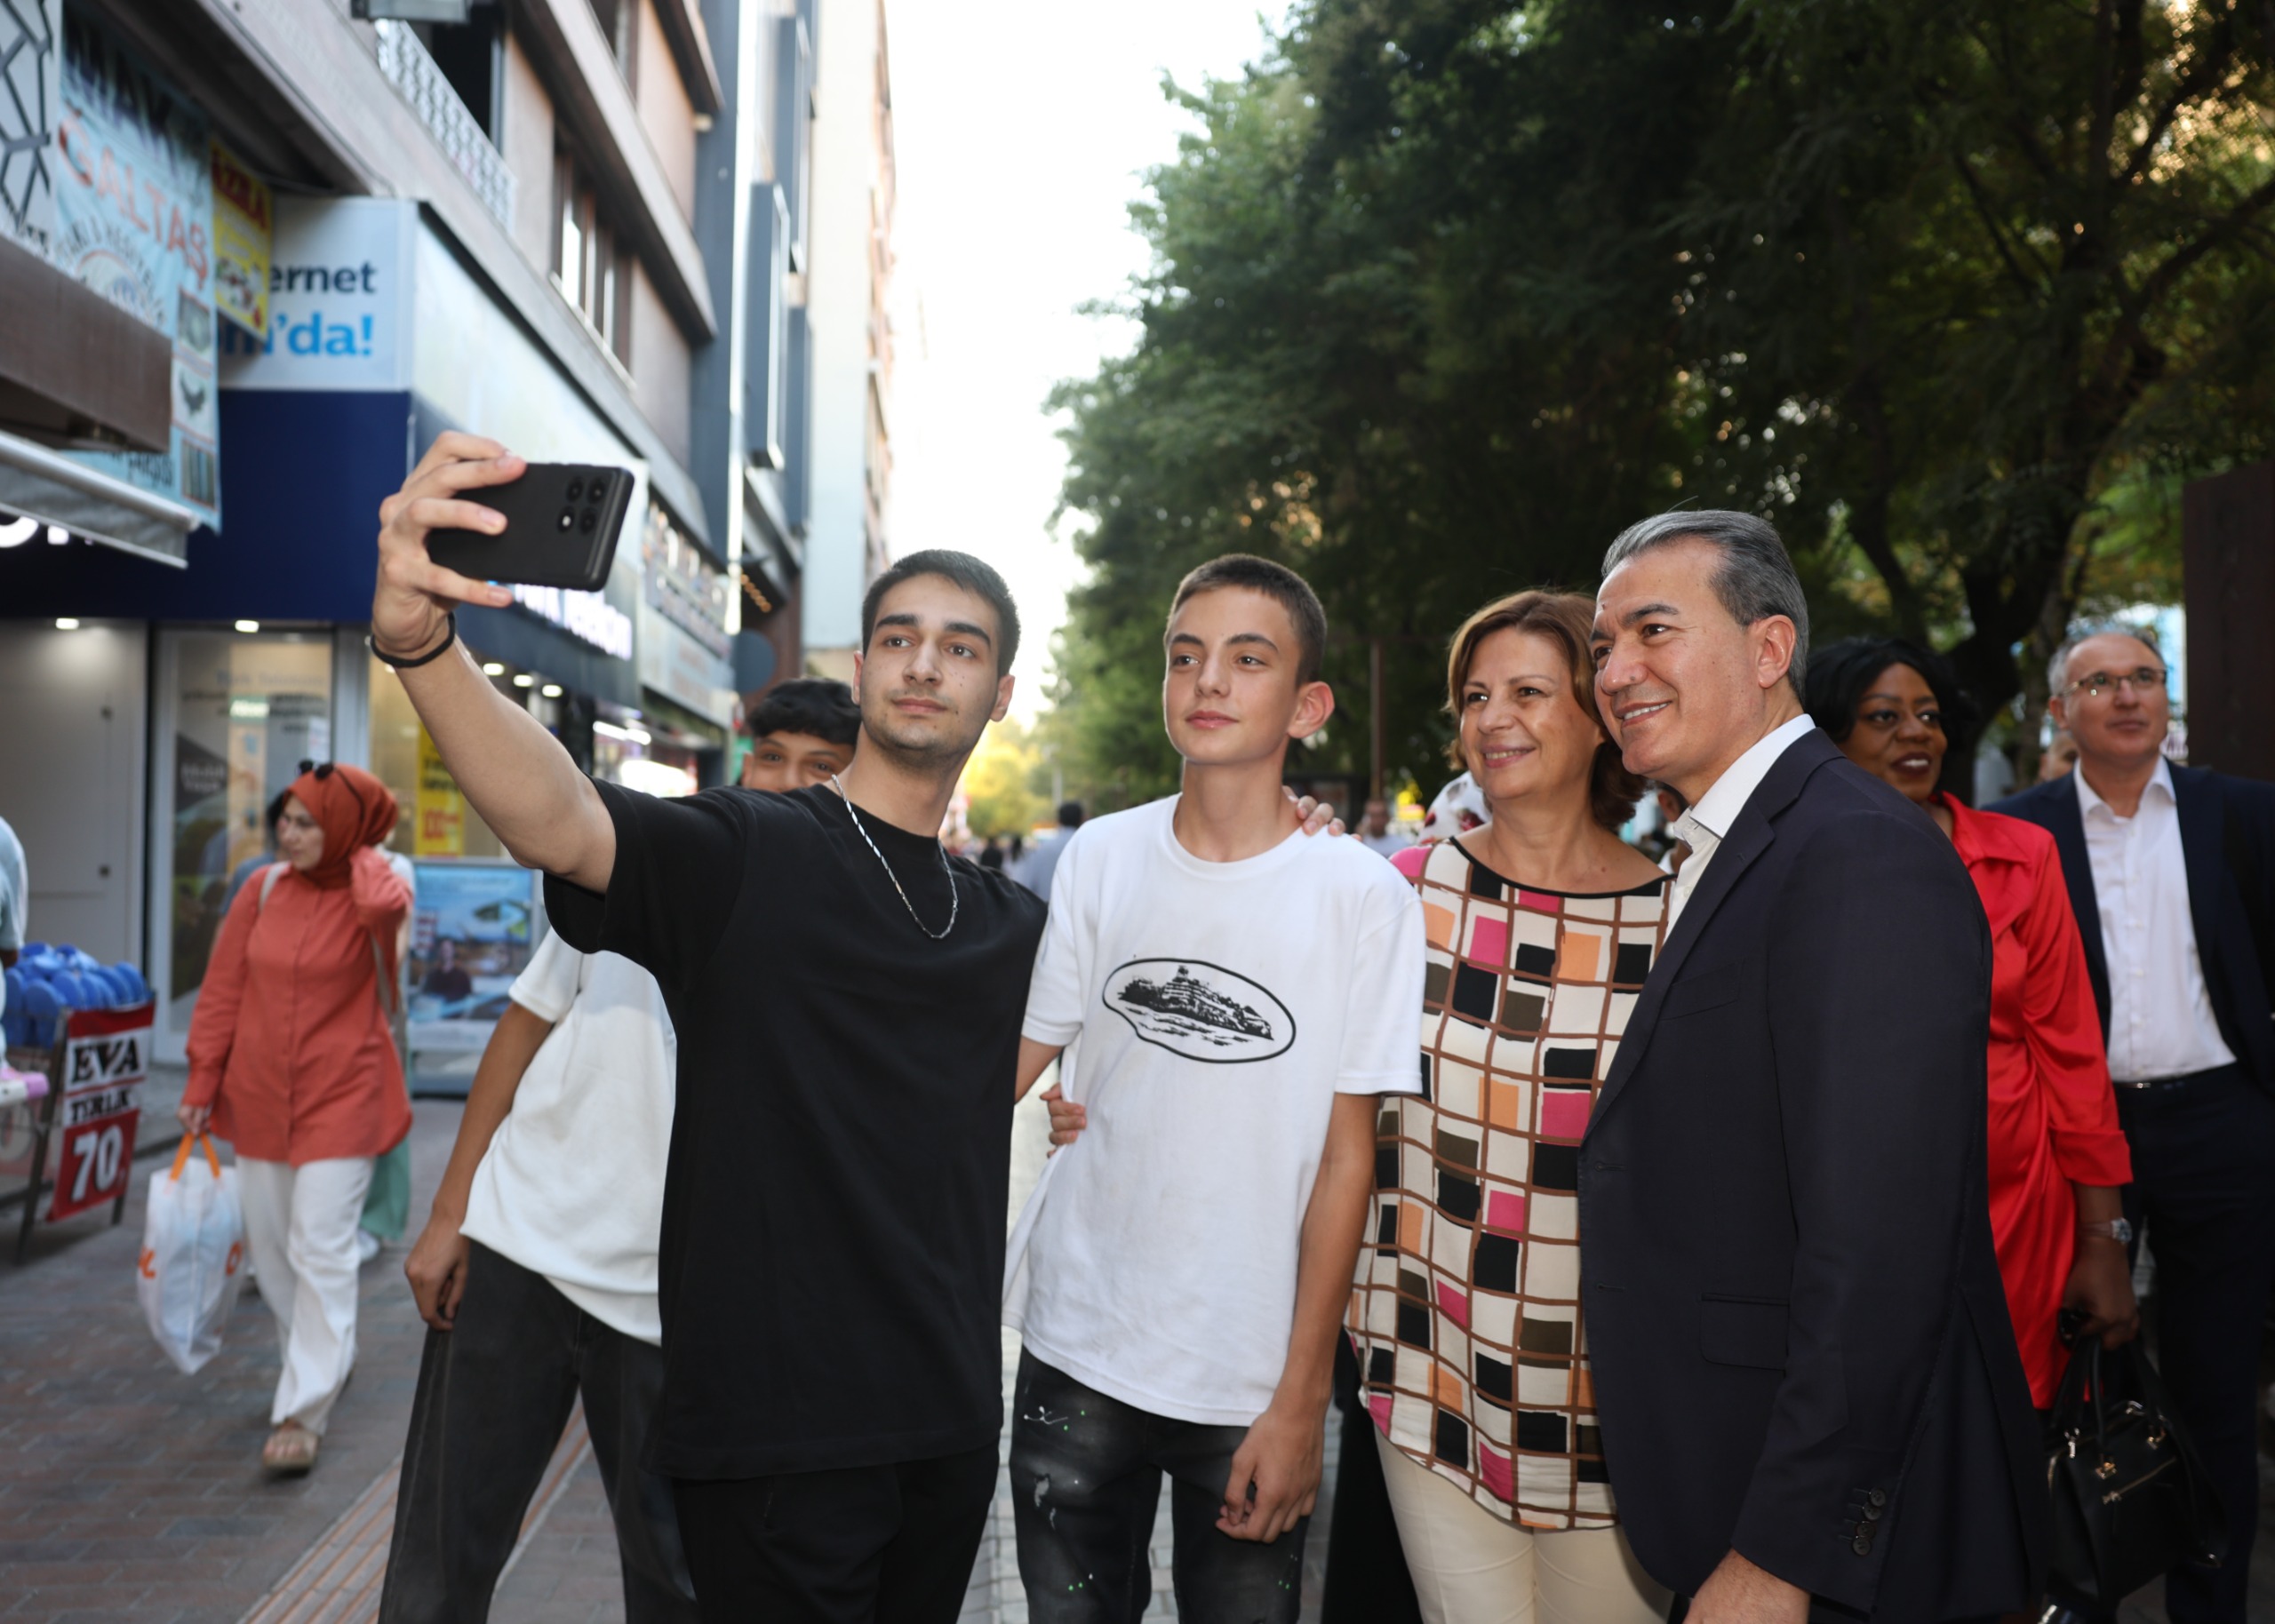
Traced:
<path id="1" fill-rule="evenodd" d="M 680 1044 L 655 1467 L 746 1478 L 992 1442 L 1042 903 L 956 857 L 956 930 L 930 942 L 828 787 L 596 787 L 607 894 L 548 878 L 546 908 L 573 948 L 655 976 Z M 862 826 L 946 923 L 940 842 Z"/>

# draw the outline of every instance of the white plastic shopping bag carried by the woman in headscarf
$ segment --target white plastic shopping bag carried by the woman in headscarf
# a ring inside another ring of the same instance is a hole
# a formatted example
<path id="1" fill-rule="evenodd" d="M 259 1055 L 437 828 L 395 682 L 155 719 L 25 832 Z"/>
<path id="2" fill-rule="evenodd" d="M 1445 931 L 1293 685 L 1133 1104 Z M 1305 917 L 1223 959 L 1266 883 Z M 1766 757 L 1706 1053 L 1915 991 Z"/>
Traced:
<path id="1" fill-rule="evenodd" d="M 205 1160 L 191 1160 L 200 1144 Z M 134 1269 L 150 1335 L 166 1358 L 193 1376 L 221 1351 L 221 1328 L 246 1283 L 246 1212 L 237 1201 L 237 1169 L 223 1167 L 214 1142 L 182 1135 L 173 1169 L 150 1174 L 150 1215 Z"/>

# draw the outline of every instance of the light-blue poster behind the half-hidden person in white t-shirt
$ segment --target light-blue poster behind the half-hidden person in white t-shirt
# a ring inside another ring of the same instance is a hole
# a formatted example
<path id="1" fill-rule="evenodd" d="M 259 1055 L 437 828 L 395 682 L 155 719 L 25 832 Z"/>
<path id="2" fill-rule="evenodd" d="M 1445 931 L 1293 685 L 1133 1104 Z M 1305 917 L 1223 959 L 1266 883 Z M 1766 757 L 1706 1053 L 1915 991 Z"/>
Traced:
<path id="1" fill-rule="evenodd" d="M 416 857 L 412 869 L 412 1053 L 480 1053 L 544 935 L 539 876 L 485 857 Z"/>

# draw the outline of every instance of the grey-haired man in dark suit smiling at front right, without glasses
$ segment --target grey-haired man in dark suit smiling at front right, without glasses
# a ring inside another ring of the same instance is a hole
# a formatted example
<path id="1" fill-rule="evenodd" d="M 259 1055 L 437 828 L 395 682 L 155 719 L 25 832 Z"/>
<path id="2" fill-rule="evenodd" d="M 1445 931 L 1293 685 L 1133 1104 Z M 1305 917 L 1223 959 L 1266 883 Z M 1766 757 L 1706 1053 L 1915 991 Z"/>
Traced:
<path id="1" fill-rule="evenodd" d="M 1690 1624 L 2036 1599 L 2045 1490 L 1984 1185 L 1991 939 L 1952 844 L 1802 710 L 1777 532 L 1604 557 L 1597 691 L 1677 789 L 1672 926 L 1581 1151 L 1604 1456 Z"/>

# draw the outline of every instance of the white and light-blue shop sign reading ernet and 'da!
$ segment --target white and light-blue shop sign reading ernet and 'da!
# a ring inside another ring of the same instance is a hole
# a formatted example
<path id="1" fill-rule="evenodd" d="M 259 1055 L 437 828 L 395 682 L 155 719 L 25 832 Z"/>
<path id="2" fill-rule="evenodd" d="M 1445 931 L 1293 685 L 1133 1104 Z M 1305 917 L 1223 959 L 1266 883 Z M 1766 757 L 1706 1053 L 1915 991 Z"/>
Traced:
<path id="1" fill-rule="evenodd" d="M 278 198 L 268 337 L 223 330 L 223 389 L 410 389 L 416 227 L 396 198 Z"/>

